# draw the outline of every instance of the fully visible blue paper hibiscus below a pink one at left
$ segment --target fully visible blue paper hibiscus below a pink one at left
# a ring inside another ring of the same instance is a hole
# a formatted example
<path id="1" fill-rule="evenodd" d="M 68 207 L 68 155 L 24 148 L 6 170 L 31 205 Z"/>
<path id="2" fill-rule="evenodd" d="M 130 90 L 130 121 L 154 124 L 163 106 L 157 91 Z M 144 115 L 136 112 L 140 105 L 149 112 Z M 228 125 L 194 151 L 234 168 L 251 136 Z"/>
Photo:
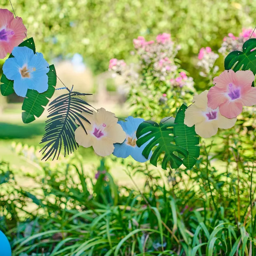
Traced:
<path id="1" fill-rule="evenodd" d="M 48 89 L 49 64 L 44 60 L 43 54 L 36 52 L 28 47 L 16 46 L 12 50 L 14 58 L 5 60 L 3 73 L 13 80 L 14 92 L 25 97 L 28 89 L 36 90 L 39 93 L 46 92 Z"/>

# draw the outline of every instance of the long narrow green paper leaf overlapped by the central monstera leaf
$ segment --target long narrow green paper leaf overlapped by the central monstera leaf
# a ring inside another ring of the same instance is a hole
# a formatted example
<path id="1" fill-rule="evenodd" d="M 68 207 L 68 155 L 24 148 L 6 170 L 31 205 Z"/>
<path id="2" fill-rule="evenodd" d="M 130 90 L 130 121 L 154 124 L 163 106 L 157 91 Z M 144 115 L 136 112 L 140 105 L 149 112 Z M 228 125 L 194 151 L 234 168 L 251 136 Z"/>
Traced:
<path id="1" fill-rule="evenodd" d="M 199 137 L 195 137 L 197 135 L 195 125 L 188 127 L 184 124 L 185 111 L 187 108 L 185 104 L 182 104 L 176 114 L 173 135 L 176 145 L 188 150 L 188 156 L 183 159 L 183 164 L 190 169 L 196 164 L 196 157 L 200 155 L 200 147 L 196 146 L 199 144 Z"/>

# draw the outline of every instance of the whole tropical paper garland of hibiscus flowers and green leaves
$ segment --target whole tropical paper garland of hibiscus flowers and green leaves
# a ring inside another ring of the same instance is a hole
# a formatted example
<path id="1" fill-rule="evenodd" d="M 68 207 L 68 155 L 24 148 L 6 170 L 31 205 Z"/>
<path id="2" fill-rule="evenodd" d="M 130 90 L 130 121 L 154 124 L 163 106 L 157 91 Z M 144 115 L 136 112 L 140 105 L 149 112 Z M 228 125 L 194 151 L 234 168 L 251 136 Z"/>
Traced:
<path id="1" fill-rule="evenodd" d="M 36 52 L 33 38 L 23 41 L 26 32 L 21 18 L 14 19 L 12 12 L 0 9 L 0 58 L 11 53 L 3 65 L 1 93 L 3 96 L 16 93 L 24 97 L 22 120 L 30 123 L 35 120 L 35 116 L 42 115 L 43 106 L 48 104 L 58 89 L 55 89 L 57 75 L 54 66 L 44 60 L 42 53 Z M 158 35 L 156 40 L 164 45 L 169 36 L 164 33 Z M 141 36 L 134 39 L 138 49 L 153 43 L 146 42 Z M 205 51 L 209 52 L 208 48 Z M 150 160 L 155 166 L 158 157 L 164 152 L 163 169 L 166 170 L 169 162 L 171 168 L 179 168 L 181 164 L 192 168 L 200 152 L 198 135 L 210 138 L 218 132 L 218 128 L 233 127 L 243 106 L 256 104 L 253 83 L 256 74 L 255 49 L 256 39 L 249 39 L 243 44 L 243 52 L 228 54 L 225 59 L 226 70 L 213 79 L 214 86 L 209 91 L 195 95 L 191 106 L 183 104 L 175 118 L 165 117 L 159 124 L 132 116 L 128 116 L 125 121 L 118 121 L 114 113 L 104 108 L 97 109 L 97 112 L 87 108 L 86 105 L 93 107 L 80 96 L 91 94 L 73 92 L 73 87 L 71 90 L 63 87 L 68 93 L 49 104 L 46 133 L 41 141 L 46 142 L 42 150 L 48 151 L 43 159 L 47 160 L 52 155 L 54 159 L 57 154 L 58 159 L 62 146 L 66 155 L 66 152 L 69 154 L 81 145 L 85 148 L 92 146 L 99 156 L 132 156 L 138 162 Z M 109 65 L 111 68 L 125 65 L 119 62 L 112 59 Z M 166 70 L 169 70 L 169 62 L 168 58 L 163 59 L 159 65 L 165 65 Z M 186 80 L 187 76 L 183 73 L 180 79 Z"/>

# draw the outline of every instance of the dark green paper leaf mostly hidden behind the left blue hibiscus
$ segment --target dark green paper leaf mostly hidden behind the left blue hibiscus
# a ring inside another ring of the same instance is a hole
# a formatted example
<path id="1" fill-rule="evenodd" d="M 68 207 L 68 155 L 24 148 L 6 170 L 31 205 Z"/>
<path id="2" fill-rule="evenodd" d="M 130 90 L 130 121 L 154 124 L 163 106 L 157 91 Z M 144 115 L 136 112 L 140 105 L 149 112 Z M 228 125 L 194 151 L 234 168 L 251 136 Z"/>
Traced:
<path id="1" fill-rule="evenodd" d="M 27 46 L 28 48 L 30 48 L 34 51 L 34 54 L 36 53 L 36 47 L 35 47 L 33 37 L 28 38 L 27 40 L 23 41 L 18 46 L 20 46 L 20 47 Z M 14 56 L 12 54 L 10 54 L 9 58 L 13 58 L 13 57 Z M 0 85 L 1 94 L 3 96 L 7 96 L 7 95 L 10 95 L 10 94 L 14 93 L 13 80 L 7 79 L 7 77 L 4 74 L 2 74 L 0 82 L 3 83 L 3 84 Z"/>

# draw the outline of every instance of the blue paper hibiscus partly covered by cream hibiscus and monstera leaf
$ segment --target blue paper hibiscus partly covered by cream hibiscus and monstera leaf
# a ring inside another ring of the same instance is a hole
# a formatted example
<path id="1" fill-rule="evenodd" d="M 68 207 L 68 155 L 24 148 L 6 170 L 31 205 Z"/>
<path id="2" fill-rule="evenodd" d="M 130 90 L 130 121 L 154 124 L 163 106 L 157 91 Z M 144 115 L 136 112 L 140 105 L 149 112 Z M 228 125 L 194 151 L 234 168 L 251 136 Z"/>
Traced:
<path id="1" fill-rule="evenodd" d="M 152 151 L 150 152 L 148 159 L 142 155 L 143 149 L 148 145 L 148 143 L 153 140 L 148 140 L 147 143 L 143 144 L 140 148 L 136 145 L 136 131 L 139 125 L 145 121 L 143 118 L 134 118 L 128 116 L 127 121 L 118 121 L 117 124 L 120 124 L 126 133 L 126 139 L 123 143 L 115 143 L 113 155 L 117 157 L 126 158 L 127 156 L 132 156 L 134 160 L 140 163 L 146 162 L 152 156 Z M 147 132 L 148 133 L 148 132 Z M 146 134 L 145 134 L 146 135 Z M 143 135 L 143 136 L 145 136 Z"/>

